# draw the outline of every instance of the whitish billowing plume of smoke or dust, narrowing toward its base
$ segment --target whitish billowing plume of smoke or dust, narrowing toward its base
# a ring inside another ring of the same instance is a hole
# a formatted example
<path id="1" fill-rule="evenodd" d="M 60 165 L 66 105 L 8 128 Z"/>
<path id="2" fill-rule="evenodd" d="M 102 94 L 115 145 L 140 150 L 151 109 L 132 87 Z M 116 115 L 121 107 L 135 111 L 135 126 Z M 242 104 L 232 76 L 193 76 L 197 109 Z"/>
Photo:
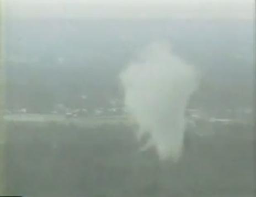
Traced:
<path id="1" fill-rule="evenodd" d="M 127 65 L 120 79 L 126 110 L 139 125 L 138 136 L 150 134 L 149 143 L 160 159 L 178 160 L 186 105 L 198 86 L 193 66 L 176 56 L 169 45 L 152 43 Z"/>

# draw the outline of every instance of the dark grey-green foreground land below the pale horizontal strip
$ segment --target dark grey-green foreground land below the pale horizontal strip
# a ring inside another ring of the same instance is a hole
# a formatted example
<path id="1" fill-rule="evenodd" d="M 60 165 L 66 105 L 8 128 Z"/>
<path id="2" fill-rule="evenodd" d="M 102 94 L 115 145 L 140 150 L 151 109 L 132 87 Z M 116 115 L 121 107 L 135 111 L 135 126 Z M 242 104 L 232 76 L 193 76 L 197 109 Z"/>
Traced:
<path id="1" fill-rule="evenodd" d="M 9 123 L 7 190 L 24 196 L 253 196 L 252 128 L 212 125 L 186 135 L 177 163 L 139 152 L 124 125 Z"/>

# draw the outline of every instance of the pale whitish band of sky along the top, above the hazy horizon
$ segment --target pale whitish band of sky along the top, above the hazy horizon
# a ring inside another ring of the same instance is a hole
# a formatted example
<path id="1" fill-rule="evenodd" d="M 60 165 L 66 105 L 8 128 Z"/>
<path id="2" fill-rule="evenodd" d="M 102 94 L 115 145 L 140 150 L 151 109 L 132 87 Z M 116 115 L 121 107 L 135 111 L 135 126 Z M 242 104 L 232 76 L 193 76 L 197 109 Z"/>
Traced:
<path id="1" fill-rule="evenodd" d="M 252 19 L 254 0 L 5 0 L 12 18 Z"/>

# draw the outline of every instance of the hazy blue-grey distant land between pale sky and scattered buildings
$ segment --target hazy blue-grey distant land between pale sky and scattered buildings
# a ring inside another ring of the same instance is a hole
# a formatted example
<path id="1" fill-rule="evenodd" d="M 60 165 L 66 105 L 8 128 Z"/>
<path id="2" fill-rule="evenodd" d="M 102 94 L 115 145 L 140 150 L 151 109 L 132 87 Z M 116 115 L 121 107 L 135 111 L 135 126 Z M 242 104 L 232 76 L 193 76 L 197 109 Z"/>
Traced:
<path id="1" fill-rule="evenodd" d="M 166 40 L 173 52 L 204 76 L 190 107 L 216 114 L 249 107 L 253 89 L 251 21 L 199 20 L 7 20 L 8 108 L 49 113 L 107 107 L 122 101 L 118 76 L 152 41 Z M 45 80 L 47 76 L 47 80 Z M 81 96 L 87 95 L 86 103 Z"/>

